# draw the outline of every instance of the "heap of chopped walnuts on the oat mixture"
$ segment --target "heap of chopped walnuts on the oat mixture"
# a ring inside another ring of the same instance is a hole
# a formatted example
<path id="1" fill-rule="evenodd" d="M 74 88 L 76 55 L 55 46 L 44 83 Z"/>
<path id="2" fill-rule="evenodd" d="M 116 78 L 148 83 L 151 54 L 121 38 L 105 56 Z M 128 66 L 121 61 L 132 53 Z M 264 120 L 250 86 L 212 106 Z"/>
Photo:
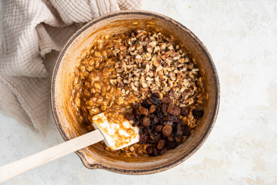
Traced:
<path id="1" fill-rule="evenodd" d="M 172 40 L 161 32 L 136 29 L 125 38 L 123 46 L 114 46 L 120 50 L 112 52 L 112 55 L 120 56 L 119 65 L 115 65 L 116 71 L 128 76 L 119 81 L 130 84 L 130 90 L 139 92 L 142 99 L 149 93 L 167 94 L 173 90 L 176 92 L 173 103 L 187 106 L 198 92 L 199 69 L 195 68 L 195 60 L 192 62 L 180 44 L 176 45 Z"/>

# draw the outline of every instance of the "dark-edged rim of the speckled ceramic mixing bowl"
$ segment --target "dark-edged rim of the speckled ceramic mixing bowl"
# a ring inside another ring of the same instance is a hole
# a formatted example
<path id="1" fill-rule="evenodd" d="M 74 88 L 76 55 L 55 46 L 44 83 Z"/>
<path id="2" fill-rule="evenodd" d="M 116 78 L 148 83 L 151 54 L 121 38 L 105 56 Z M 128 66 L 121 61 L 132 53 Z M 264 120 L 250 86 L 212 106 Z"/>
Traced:
<path id="1" fill-rule="evenodd" d="M 129 175 L 146 175 L 146 174 L 154 174 L 154 173 L 158 173 L 158 172 L 162 172 L 165 170 L 168 170 L 170 168 L 173 168 L 175 166 L 177 166 L 178 164 L 184 162 L 187 158 L 189 158 L 192 154 L 194 154 L 201 146 L 202 144 L 206 141 L 207 137 L 209 136 L 215 122 L 216 122 L 216 118 L 218 115 L 218 110 L 219 110 L 219 103 L 220 103 L 220 84 L 219 84 L 219 78 L 218 78 L 218 73 L 215 67 L 215 64 L 212 60 L 211 55 L 209 54 L 207 48 L 204 46 L 204 44 L 200 41 L 200 39 L 198 39 L 198 37 L 196 35 L 194 35 L 194 33 L 192 33 L 188 28 L 186 28 L 183 24 L 181 24 L 180 22 L 167 17 L 165 15 L 159 14 L 159 13 L 155 13 L 155 12 L 151 12 L 151 11 L 145 11 L 145 10 L 122 10 L 122 11 L 116 11 L 116 12 L 112 12 L 112 13 L 108 13 L 102 16 L 99 16 L 95 19 L 93 19 L 92 21 L 88 22 L 87 24 L 85 24 L 82 28 L 80 28 L 78 31 L 76 31 L 66 42 L 66 44 L 63 46 L 62 50 L 59 53 L 59 56 L 55 62 L 55 65 L 53 67 L 53 71 L 52 71 L 52 76 L 51 76 L 51 85 L 50 85 L 50 100 L 51 100 L 51 110 L 52 110 L 52 114 L 54 117 L 54 121 L 57 125 L 57 128 L 61 134 L 61 136 L 63 137 L 63 139 L 65 141 L 69 140 L 69 138 L 67 137 L 65 131 L 62 129 L 61 123 L 59 122 L 57 113 L 56 113 L 56 104 L 55 104 L 55 77 L 56 77 L 56 73 L 58 71 L 59 68 L 59 64 L 63 59 L 64 53 L 66 52 L 67 48 L 70 46 L 70 44 L 83 32 L 85 31 L 87 28 L 93 26 L 93 24 L 113 17 L 113 16 L 118 16 L 118 15 L 128 15 L 128 14 L 137 14 L 137 15 L 148 15 L 148 16 L 152 16 L 158 19 L 163 19 L 167 22 L 171 22 L 172 24 L 174 24 L 175 26 L 181 28 L 183 31 L 187 32 L 188 35 L 190 35 L 190 37 L 192 37 L 192 39 L 197 43 L 197 45 L 203 50 L 204 54 L 206 55 L 206 57 L 208 58 L 209 64 L 212 68 L 213 71 L 213 76 L 215 79 L 215 92 L 216 92 L 216 102 L 215 102 L 215 108 L 213 111 L 213 116 L 211 119 L 211 122 L 208 126 L 207 131 L 205 132 L 205 134 L 202 136 L 202 138 L 200 139 L 200 141 L 184 156 L 182 156 L 181 158 L 173 161 L 172 163 L 168 164 L 168 165 L 164 165 L 158 168 L 151 168 L 151 169 L 146 169 L 146 170 L 125 170 L 125 169 L 121 169 L 121 168 L 116 168 L 116 167 L 109 167 L 103 164 L 90 164 L 87 162 L 85 155 L 82 151 L 77 150 L 75 151 L 75 153 L 80 157 L 82 163 L 84 164 L 85 167 L 89 168 L 89 169 L 103 169 L 103 170 L 108 170 L 111 172 L 116 172 L 116 173 L 120 173 L 120 174 L 129 174 Z"/>

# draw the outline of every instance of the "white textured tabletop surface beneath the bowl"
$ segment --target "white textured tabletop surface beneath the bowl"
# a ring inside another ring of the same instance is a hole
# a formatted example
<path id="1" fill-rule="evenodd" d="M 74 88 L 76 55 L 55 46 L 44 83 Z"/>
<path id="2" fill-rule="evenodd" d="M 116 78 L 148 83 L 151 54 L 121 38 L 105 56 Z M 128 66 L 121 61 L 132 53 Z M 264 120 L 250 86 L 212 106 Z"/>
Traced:
<path id="1" fill-rule="evenodd" d="M 3 185 L 277 184 L 277 1 L 143 0 L 142 9 L 183 23 L 216 64 L 221 105 L 207 141 L 185 162 L 158 174 L 89 170 L 73 153 Z M 63 142 L 50 110 L 46 134 L 42 141 L 39 133 L 0 114 L 0 166 Z"/>

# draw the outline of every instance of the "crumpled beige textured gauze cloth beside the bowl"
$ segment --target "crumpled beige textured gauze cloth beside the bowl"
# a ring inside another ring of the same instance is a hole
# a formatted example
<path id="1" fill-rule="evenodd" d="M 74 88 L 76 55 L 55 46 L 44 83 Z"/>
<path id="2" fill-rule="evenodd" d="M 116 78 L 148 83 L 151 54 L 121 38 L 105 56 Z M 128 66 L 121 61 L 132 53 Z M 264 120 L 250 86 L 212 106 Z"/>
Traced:
<path id="1" fill-rule="evenodd" d="M 3 0 L 0 111 L 45 136 L 49 73 L 42 58 L 60 51 L 84 23 L 140 0 Z M 47 61 L 46 61 L 47 62 Z"/>

